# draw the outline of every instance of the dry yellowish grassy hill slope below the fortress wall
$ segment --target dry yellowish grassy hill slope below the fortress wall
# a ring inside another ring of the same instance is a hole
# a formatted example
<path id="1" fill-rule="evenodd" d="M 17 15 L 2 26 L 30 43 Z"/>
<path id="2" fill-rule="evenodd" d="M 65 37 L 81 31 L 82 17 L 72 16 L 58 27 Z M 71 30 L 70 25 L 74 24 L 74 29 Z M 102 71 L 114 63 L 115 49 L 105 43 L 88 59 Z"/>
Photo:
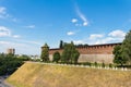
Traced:
<path id="1" fill-rule="evenodd" d="M 15 87 L 131 87 L 131 72 L 27 62 L 7 82 Z"/>

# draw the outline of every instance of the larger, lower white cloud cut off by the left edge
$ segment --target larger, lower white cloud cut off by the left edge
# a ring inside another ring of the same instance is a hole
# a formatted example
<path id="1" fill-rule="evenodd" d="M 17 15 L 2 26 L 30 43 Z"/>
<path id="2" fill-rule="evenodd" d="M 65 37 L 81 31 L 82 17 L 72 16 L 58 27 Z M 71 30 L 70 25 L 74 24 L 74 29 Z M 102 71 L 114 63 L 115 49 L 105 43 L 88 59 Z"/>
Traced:
<path id="1" fill-rule="evenodd" d="M 10 37 L 11 32 L 8 27 L 0 26 L 0 37 Z"/>

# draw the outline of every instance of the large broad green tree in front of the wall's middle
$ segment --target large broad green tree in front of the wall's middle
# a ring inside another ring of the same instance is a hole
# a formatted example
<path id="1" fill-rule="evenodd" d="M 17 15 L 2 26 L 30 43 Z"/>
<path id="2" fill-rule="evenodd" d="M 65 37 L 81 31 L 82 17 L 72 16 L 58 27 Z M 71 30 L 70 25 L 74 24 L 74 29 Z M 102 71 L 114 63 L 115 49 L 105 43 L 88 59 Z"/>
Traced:
<path id="1" fill-rule="evenodd" d="M 61 61 L 66 63 L 78 63 L 79 51 L 75 49 L 73 41 L 71 44 L 66 44 L 62 52 Z"/>

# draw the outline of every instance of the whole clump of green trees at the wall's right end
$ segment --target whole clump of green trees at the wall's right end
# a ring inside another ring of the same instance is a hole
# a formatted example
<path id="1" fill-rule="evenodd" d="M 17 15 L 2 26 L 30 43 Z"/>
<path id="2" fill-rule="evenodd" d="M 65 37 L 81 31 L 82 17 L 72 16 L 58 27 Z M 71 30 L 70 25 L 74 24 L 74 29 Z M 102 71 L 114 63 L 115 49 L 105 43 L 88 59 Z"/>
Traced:
<path id="1" fill-rule="evenodd" d="M 116 46 L 112 53 L 115 54 L 114 63 L 131 65 L 131 30 L 127 33 L 121 46 Z"/>

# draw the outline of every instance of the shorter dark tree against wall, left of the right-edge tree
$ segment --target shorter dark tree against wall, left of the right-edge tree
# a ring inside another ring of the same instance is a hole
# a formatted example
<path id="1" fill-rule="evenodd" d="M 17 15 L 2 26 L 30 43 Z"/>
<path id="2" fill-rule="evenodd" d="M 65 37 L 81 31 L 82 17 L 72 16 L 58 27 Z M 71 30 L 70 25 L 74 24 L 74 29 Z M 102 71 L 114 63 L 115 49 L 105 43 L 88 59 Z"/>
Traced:
<path id="1" fill-rule="evenodd" d="M 114 63 L 121 64 L 121 66 L 126 63 L 126 59 L 122 58 L 121 53 L 121 46 L 118 45 L 114 48 L 112 53 L 115 54 Z"/>

